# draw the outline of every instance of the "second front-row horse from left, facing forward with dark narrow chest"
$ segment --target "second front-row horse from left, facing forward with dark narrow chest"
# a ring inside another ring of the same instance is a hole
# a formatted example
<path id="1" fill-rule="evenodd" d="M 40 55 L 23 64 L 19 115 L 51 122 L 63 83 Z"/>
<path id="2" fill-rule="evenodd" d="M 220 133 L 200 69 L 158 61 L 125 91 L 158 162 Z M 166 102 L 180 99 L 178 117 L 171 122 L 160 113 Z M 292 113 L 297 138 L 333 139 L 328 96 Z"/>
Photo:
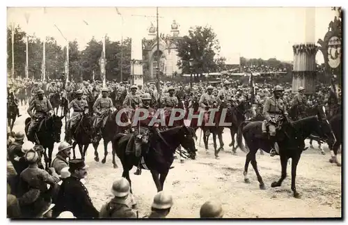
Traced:
<path id="1" fill-rule="evenodd" d="M 86 157 L 86 151 L 90 143 L 97 148 L 97 143 L 91 141 L 95 135 L 95 130 L 93 129 L 93 117 L 89 114 L 83 114 L 79 123 L 72 127 L 72 138 L 74 142 L 72 143 L 73 158 L 75 159 L 75 147 L 79 146 L 79 151 L 81 158 L 84 160 Z"/>

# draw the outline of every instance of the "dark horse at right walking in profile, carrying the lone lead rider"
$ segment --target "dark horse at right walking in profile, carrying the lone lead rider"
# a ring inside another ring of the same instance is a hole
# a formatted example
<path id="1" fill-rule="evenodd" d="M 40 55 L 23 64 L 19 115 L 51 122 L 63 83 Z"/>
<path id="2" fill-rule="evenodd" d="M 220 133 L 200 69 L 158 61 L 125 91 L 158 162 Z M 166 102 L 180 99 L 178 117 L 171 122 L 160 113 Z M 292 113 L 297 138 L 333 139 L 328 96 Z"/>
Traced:
<path id="1" fill-rule="evenodd" d="M 332 130 L 326 120 L 318 118 L 318 116 L 310 116 L 303 118 L 299 121 L 288 121 L 287 117 L 283 117 L 283 125 L 280 130 L 277 131 L 277 141 L 279 145 L 279 155 L 280 155 L 280 164 L 282 167 L 281 177 L 278 181 L 271 184 L 271 187 L 280 187 L 281 183 L 286 177 L 287 171 L 287 161 L 292 158 L 292 183 L 291 189 L 294 192 L 295 198 L 300 198 L 299 192 L 296 191 L 296 167 L 299 163 L 301 153 L 305 150 L 304 140 L 310 136 L 313 132 L 319 134 L 320 137 L 332 137 Z M 242 132 L 237 134 L 237 143 L 239 148 L 244 148 L 242 144 L 242 135 L 244 137 L 246 146 L 249 149 L 248 154 L 246 155 L 246 162 L 244 166 L 244 182 L 250 183 L 247 173 L 248 173 L 248 164 L 251 162 L 253 169 L 255 170 L 256 176 L 260 183 L 260 189 L 265 189 L 264 182 L 258 171 L 258 165 L 256 162 L 256 152 L 259 148 L 269 153 L 271 150 L 271 142 L 268 137 L 262 135 L 262 122 L 244 122 L 248 123 L 243 129 Z M 244 125 L 244 124 L 242 124 Z M 240 131 L 240 130 L 239 130 Z"/>

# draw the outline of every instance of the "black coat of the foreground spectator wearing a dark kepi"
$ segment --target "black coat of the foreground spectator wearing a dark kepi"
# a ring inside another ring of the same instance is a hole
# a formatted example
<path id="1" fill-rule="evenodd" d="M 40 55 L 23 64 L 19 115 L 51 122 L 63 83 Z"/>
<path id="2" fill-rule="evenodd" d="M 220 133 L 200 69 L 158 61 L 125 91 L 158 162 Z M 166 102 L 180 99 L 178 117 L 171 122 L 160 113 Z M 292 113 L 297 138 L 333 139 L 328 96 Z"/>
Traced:
<path id="1" fill-rule="evenodd" d="M 56 206 L 53 208 L 54 217 L 63 211 L 72 212 L 78 219 L 99 217 L 99 212 L 93 206 L 88 191 L 79 178 L 70 176 L 61 184 Z"/>

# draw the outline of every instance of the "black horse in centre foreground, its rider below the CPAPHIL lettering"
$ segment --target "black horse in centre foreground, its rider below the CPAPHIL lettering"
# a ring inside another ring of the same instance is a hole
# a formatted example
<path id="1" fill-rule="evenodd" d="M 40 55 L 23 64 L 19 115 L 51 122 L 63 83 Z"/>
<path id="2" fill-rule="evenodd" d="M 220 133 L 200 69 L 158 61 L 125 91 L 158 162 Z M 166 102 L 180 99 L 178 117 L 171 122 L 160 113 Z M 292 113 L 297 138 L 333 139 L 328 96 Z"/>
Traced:
<path id="1" fill-rule="evenodd" d="M 137 166 L 139 162 L 139 158 L 135 155 L 125 154 L 131 135 L 117 134 L 112 141 L 113 162 L 115 162 L 116 154 L 122 163 L 122 177 L 126 178 L 129 184 L 132 183 L 129 178 L 129 171 L 133 166 Z M 163 190 L 164 180 L 166 180 L 171 164 L 173 164 L 175 149 L 181 145 L 189 153 L 196 153 L 193 137 L 196 137 L 196 135 L 191 127 L 180 126 L 161 131 L 150 139 L 149 151 L 143 155 L 143 162 L 145 163 L 143 168 L 150 170 L 157 192 Z"/>

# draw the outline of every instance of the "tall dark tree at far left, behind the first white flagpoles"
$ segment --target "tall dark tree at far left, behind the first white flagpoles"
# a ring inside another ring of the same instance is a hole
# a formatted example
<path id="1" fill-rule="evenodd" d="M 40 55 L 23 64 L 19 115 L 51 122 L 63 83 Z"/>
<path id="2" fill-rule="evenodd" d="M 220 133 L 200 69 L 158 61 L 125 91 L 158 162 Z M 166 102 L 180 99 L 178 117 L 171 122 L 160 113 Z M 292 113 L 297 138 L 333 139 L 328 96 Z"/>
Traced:
<path id="1" fill-rule="evenodd" d="M 15 27 L 14 32 L 14 45 L 13 52 L 15 53 L 15 77 L 24 77 L 25 76 L 25 64 L 26 64 L 26 42 L 25 36 L 26 33 L 17 26 Z M 7 69 L 8 73 L 12 70 L 12 31 L 10 28 L 7 29 Z"/>

